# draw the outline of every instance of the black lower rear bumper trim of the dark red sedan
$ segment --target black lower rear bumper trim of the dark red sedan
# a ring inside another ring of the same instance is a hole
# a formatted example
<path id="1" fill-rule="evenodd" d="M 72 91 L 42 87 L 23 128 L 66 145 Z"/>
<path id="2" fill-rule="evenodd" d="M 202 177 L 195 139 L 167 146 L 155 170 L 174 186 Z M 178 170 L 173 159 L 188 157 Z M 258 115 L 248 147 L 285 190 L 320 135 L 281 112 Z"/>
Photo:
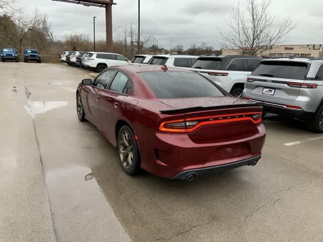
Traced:
<path id="1" fill-rule="evenodd" d="M 231 170 L 235 169 L 241 166 L 245 165 L 255 165 L 256 162 L 261 158 L 261 155 L 257 155 L 248 159 L 236 161 L 233 163 L 228 163 L 228 164 L 223 164 L 223 165 L 216 165 L 216 166 L 210 166 L 210 167 L 204 167 L 204 168 L 197 168 L 197 169 L 190 169 L 190 170 L 185 170 L 177 175 L 173 176 L 171 179 L 181 179 L 185 180 L 188 176 L 194 175 L 195 177 L 204 175 L 204 174 L 209 174 L 209 173 L 217 173 L 221 172 L 224 170 Z"/>

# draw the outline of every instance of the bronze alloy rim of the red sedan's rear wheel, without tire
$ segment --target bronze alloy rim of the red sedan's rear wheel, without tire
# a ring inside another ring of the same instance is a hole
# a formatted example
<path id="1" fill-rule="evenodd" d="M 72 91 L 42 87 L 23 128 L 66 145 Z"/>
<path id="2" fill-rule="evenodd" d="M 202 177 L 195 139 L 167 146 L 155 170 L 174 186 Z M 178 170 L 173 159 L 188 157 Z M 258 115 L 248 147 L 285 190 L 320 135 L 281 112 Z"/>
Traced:
<path id="1" fill-rule="evenodd" d="M 119 157 L 121 164 L 126 169 L 131 169 L 133 166 L 133 143 L 130 134 L 123 131 L 119 136 Z"/>

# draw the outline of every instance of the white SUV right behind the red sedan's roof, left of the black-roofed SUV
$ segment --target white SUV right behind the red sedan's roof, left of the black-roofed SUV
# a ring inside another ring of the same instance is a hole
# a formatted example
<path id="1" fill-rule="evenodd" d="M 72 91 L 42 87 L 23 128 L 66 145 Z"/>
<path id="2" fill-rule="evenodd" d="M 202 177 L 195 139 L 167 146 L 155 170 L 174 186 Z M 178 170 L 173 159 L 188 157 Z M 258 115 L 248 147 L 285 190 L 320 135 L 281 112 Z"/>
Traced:
<path id="1" fill-rule="evenodd" d="M 197 60 L 196 55 L 158 54 L 152 56 L 149 65 L 166 65 L 168 67 L 190 68 Z"/>

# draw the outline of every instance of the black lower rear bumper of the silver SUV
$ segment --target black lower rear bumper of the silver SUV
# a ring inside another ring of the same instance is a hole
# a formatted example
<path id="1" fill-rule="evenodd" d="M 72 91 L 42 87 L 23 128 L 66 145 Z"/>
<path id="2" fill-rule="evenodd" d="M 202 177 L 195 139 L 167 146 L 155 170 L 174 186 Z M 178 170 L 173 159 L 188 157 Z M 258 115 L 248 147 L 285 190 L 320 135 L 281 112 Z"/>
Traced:
<path id="1" fill-rule="evenodd" d="M 283 104 L 262 102 L 255 99 L 250 99 L 250 101 L 261 102 L 263 106 L 263 110 L 265 112 L 275 113 L 282 116 L 296 117 L 299 119 L 308 120 L 308 119 L 311 119 L 315 114 L 313 112 L 307 112 L 302 109 L 288 108 Z"/>

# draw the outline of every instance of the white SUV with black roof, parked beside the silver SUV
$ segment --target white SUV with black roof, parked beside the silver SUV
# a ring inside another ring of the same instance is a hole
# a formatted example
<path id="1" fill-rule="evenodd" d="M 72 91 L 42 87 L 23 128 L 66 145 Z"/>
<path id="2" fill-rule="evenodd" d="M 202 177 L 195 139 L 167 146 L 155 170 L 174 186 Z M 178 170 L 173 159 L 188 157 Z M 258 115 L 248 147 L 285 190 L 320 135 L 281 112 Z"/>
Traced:
<path id="1" fill-rule="evenodd" d="M 259 66 L 261 60 L 258 56 L 201 56 L 191 70 L 207 77 L 233 96 L 241 98 L 247 76 Z"/>

